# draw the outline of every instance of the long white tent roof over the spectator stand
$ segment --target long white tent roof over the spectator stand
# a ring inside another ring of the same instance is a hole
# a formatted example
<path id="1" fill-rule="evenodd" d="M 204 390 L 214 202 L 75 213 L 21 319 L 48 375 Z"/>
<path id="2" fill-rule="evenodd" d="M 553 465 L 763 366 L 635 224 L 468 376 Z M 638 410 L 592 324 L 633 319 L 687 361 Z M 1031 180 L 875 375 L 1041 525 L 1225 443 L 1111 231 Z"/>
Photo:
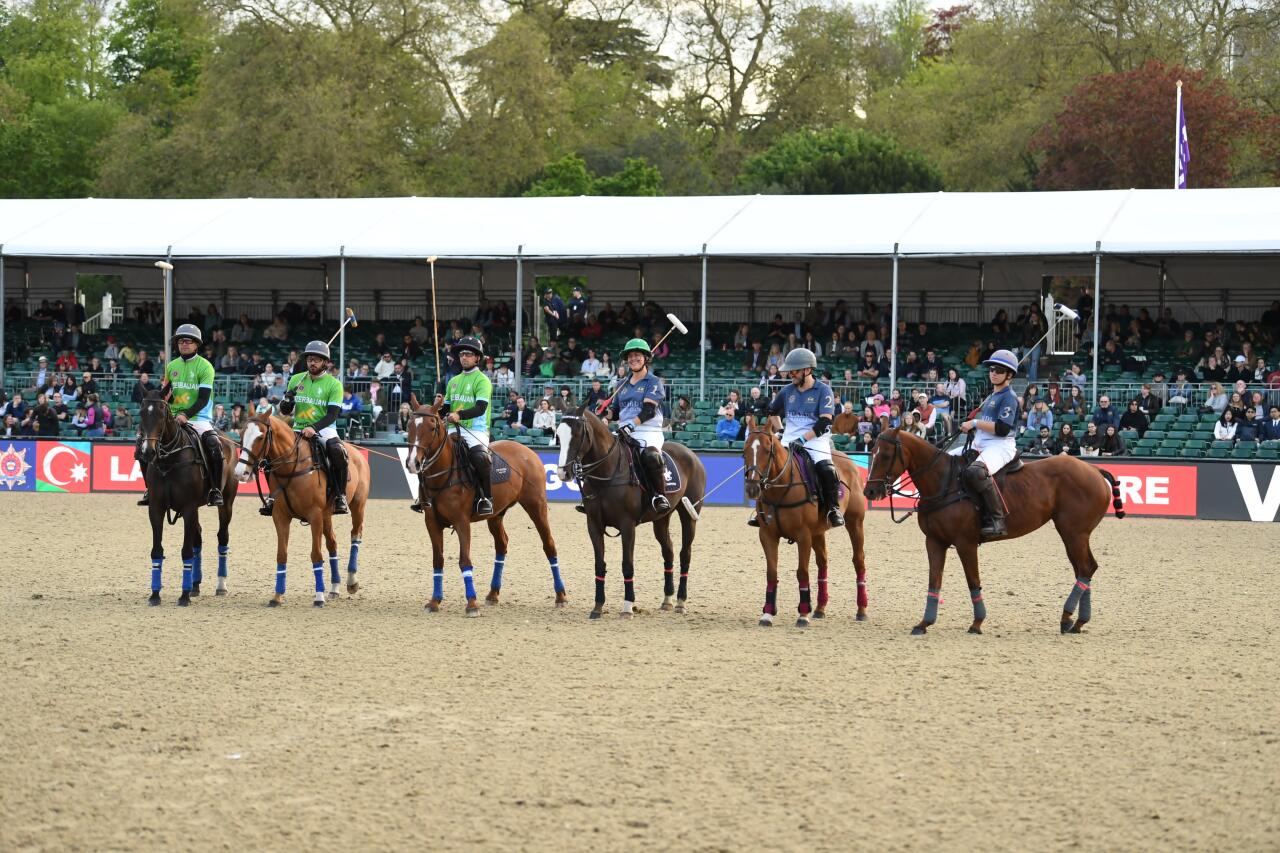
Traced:
<path id="1" fill-rule="evenodd" d="M 660 199 L 0 200 L 28 257 L 1280 254 L 1280 188 Z"/>

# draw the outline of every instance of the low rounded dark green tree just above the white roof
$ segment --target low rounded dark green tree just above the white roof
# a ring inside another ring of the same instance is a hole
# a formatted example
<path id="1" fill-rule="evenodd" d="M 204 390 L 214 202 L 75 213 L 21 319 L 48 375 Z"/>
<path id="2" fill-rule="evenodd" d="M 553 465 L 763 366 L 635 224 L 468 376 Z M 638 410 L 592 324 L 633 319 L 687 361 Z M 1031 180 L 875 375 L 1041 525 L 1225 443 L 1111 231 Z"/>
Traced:
<path id="1" fill-rule="evenodd" d="M 746 192 L 788 195 L 932 192 L 942 175 L 915 151 L 867 131 L 788 133 L 742 167 Z"/>

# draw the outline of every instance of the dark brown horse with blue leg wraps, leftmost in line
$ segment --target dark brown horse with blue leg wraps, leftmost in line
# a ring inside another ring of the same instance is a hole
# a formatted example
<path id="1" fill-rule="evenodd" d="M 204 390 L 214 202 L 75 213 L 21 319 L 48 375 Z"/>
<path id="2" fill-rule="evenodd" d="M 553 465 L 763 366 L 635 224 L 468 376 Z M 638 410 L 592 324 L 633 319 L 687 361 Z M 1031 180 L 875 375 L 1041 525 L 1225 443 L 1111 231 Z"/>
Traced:
<path id="1" fill-rule="evenodd" d="M 164 570 L 164 523 L 183 521 L 182 537 L 182 596 L 179 607 L 191 605 L 200 596 L 204 580 L 201 551 L 204 539 L 200 526 L 200 507 L 205 506 L 209 484 L 201 462 L 200 438 L 178 425 L 169 411 L 169 402 L 159 393 L 148 393 L 142 401 L 138 419 L 142 438 L 140 457 L 147 465 L 146 487 L 151 493 L 148 516 L 151 519 L 151 597 L 152 607 L 160 603 L 161 574 Z M 236 502 L 236 482 L 230 478 L 230 446 L 223 442 L 223 506 L 218 507 L 218 588 L 215 596 L 227 594 L 227 561 L 230 542 L 232 505 Z"/>

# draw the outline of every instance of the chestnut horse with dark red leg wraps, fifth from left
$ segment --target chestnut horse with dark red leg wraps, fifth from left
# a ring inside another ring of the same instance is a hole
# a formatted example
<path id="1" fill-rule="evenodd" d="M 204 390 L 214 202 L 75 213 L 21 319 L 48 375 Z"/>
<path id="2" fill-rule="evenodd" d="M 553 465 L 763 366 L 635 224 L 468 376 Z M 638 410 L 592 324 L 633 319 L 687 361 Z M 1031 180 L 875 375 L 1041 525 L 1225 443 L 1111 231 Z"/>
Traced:
<path id="1" fill-rule="evenodd" d="M 760 546 L 768 576 L 764 585 L 764 612 L 760 625 L 768 628 L 778 613 L 778 539 L 786 537 L 796 543 L 796 581 L 800 584 L 800 607 L 796 628 L 806 628 L 810 619 L 809 551 L 818 561 L 818 606 L 813 619 L 827 616 L 827 530 L 831 525 L 818 505 L 809 500 L 805 484 L 792 453 L 782 444 L 768 424 L 759 425 L 755 418 L 746 419 L 746 441 L 742 443 L 744 479 L 746 497 L 756 502 L 760 521 Z M 858 576 L 858 621 L 867 620 L 867 555 L 863 551 L 863 520 L 867 501 L 859 488 L 858 467 L 840 451 L 833 451 L 831 461 L 844 485 L 841 515 L 849 542 L 854 546 L 854 571 Z M 810 470 L 813 470 L 810 467 Z M 817 476 L 817 471 L 813 471 Z"/>

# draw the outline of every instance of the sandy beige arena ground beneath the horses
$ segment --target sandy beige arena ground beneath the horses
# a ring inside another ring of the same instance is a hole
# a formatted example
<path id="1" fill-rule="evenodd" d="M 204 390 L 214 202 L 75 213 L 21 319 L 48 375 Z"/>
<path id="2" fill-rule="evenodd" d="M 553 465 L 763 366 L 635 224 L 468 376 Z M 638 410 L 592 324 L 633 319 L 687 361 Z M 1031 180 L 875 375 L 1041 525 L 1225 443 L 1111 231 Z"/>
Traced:
<path id="1" fill-rule="evenodd" d="M 513 512 L 504 602 L 426 615 L 428 540 L 375 502 L 362 589 L 311 607 L 294 528 L 291 594 L 262 605 L 270 523 L 232 526 L 232 594 L 148 608 L 150 533 L 125 496 L 5 498 L 0 849 L 1276 849 L 1280 617 L 1274 526 L 1126 519 L 1094 538 L 1094 621 L 1061 637 L 1052 529 L 982 551 L 991 615 L 954 553 L 940 624 L 914 523 L 868 521 L 870 621 L 852 620 L 847 539 L 831 616 L 756 628 L 763 558 L 745 512 L 707 511 L 691 612 L 593 594 L 581 516 L 553 507 L 567 610 Z M 212 515 L 206 519 L 212 542 Z M 483 532 L 476 528 L 477 534 Z M 343 565 L 346 543 L 343 542 Z M 448 538 L 452 547 L 454 540 Z M 209 552 L 212 551 L 210 546 Z M 794 548 L 783 566 L 794 566 Z M 480 537 L 477 585 L 493 546 Z"/>

